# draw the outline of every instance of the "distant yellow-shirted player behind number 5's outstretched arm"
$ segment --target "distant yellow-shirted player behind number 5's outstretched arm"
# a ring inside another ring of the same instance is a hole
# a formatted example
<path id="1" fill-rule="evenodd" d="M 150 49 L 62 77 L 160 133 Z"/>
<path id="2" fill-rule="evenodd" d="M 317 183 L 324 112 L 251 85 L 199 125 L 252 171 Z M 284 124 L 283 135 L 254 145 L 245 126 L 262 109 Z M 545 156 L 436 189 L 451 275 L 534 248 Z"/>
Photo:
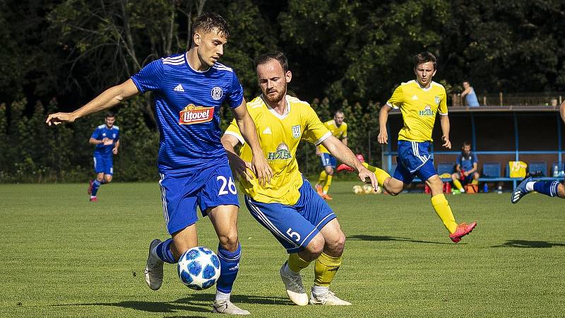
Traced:
<path id="1" fill-rule="evenodd" d="M 331 134 L 335 138 L 340 139 L 341 142 L 347 146 L 347 124 L 343 122 L 343 119 L 345 119 L 345 115 L 341 110 L 338 110 L 333 115 L 333 119 L 324 122 L 323 125 L 331 131 Z M 333 170 L 335 170 L 336 160 L 323 145 L 316 146 L 316 155 L 320 156 L 323 167 L 323 171 L 320 172 L 318 182 L 316 182 L 316 192 L 318 192 L 323 199 L 331 200 L 332 197 L 329 196 L 328 191 L 331 186 L 331 179 L 333 178 Z"/>

